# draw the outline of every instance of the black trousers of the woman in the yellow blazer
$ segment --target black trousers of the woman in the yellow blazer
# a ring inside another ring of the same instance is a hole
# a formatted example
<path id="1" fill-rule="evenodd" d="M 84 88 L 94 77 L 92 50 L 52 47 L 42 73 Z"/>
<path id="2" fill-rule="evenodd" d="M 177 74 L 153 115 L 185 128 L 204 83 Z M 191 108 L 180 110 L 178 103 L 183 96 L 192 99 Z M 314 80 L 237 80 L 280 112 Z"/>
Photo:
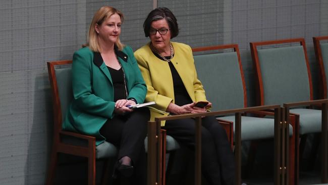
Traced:
<path id="1" fill-rule="evenodd" d="M 195 149 L 195 120 L 166 121 L 164 129 L 181 145 Z M 202 118 L 202 173 L 210 184 L 235 184 L 235 161 L 227 133 L 212 117 Z"/>

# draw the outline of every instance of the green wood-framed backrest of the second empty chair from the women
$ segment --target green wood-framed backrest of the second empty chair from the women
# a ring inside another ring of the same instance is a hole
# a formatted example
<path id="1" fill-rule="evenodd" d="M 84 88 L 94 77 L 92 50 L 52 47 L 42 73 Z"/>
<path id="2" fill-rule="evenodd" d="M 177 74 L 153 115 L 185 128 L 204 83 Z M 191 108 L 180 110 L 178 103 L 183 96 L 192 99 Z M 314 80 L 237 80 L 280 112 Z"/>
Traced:
<path id="1" fill-rule="evenodd" d="M 258 88 L 257 105 L 283 105 L 313 99 L 303 38 L 251 42 L 250 46 Z"/>

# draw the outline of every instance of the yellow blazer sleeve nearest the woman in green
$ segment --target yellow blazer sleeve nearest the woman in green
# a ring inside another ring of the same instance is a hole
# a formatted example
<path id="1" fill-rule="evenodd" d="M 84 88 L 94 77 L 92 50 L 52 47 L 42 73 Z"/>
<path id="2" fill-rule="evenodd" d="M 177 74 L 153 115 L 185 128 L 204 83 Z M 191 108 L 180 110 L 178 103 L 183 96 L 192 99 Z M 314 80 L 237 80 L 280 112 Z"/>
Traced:
<path id="1" fill-rule="evenodd" d="M 141 71 L 141 74 L 143 76 L 143 79 L 146 82 L 147 85 L 147 95 L 146 95 L 146 102 L 156 102 L 156 104 L 153 106 L 154 108 L 166 111 L 169 107 L 169 104 L 173 102 L 173 99 L 162 96 L 158 93 L 157 90 L 154 89 L 152 82 L 151 82 L 151 75 L 149 71 L 148 61 L 146 61 L 140 54 L 135 53 L 135 57 L 138 61 L 138 65 Z"/>

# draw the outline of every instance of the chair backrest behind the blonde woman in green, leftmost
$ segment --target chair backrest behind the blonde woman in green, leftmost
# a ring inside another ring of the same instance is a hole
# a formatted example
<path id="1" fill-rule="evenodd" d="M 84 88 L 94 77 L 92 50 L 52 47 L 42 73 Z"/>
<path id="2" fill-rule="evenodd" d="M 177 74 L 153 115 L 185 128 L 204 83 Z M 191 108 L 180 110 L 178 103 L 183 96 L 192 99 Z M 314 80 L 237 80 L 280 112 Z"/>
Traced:
<path id="1" fill-rule="evenodd" d="M 66 110 L 73 99 L 71 60 L 47 62 L 53 100 L 54 132 L 62 130 Z"/>

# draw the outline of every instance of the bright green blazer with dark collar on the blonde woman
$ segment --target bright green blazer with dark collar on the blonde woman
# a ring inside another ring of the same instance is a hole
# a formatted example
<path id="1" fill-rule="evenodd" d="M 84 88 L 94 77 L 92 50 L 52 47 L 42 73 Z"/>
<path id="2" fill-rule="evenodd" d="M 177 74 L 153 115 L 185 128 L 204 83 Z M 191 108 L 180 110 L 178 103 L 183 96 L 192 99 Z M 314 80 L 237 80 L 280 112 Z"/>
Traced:
<path id="1" fill-rule="evenodd" d="M 125 72 L 128 99 L 143 103 L 147 88 L 132 49 L 126 46 L 119 51 L 115 47 L 115 53 Z M 65 115 L 63 129 L 96 136 L 96 145 L 99 145 L 105 140 L 99 129 L 107 119 L 115 116 L 112 77 L 100 53 L 87 47 L 74 53 L 72 86 L 74 97 Z"/>

